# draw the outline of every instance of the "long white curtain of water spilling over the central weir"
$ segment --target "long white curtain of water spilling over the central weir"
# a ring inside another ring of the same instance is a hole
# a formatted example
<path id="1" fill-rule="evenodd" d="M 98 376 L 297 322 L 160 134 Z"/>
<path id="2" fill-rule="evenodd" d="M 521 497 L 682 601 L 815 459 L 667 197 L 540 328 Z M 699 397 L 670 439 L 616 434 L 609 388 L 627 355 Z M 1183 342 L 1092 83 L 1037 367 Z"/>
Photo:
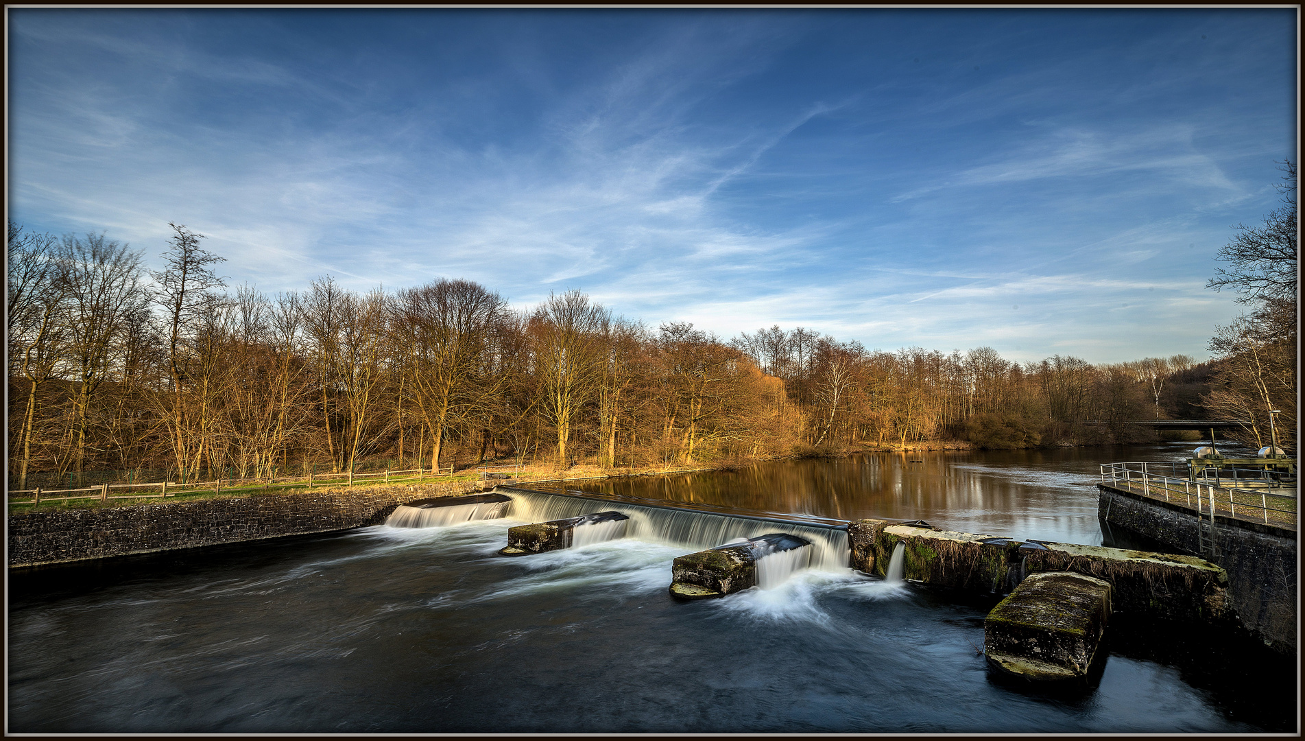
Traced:
<path id="1" fill-rule="evenodd" d="M 548 522 L 565 519 L 582 514 L 598 511 L 620 510 L 628 515 L 625 523 L 625 536 L 676 545 L 689 551 L 706 551 L 716 548 L 731 540 L 757 537 L 771 532 L 787 532 L 810 541 L 808 548 L 797 548 L 805 552 L 806 566 L 834 571 L 848 567 L 850 548 L 847 544 L 847 531 L 837 527 L 804 524 L 799 522 L 780 522 L 761 517 L 711 514 L 705 511 L 679 510 L 672 506 L 625 504 L 619 498 L 585 498 L 581 496 L 551 494 L 526 489 L 500 487 L 497 489 L 512 497 L 512 506 L 505 517 L 523 522 Z M 586 527 L 599 527 L 596 524 L 576 527 L 572 545 L 579 544 L 581 534 Z M 596 535 L 596 534 L 595 534 Z M 589 535 L 586 535 L 589 537 Z M 688 551 L 686 551 L 688 552 Z M 766 564 L 767 571 L 791 573 L 799 567 L 803 556 L 788 551 L 774 553 L 758 560 L 758 579 L 762 561 L 775 557 L 773 564 Z M 784 565 L 792 561 L 792 565 Z"/>

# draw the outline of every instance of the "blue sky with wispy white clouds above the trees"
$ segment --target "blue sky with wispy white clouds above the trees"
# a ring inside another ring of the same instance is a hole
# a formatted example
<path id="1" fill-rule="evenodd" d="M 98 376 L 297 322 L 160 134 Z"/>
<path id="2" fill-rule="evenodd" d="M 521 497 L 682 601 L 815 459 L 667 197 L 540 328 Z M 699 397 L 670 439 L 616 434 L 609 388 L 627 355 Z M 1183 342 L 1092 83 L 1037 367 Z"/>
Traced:
<path id="1" fill-rule="evenodd" d="M 1206 357 L 1289 9 L 9 9 L 9 217 L 868 348 Z"/>

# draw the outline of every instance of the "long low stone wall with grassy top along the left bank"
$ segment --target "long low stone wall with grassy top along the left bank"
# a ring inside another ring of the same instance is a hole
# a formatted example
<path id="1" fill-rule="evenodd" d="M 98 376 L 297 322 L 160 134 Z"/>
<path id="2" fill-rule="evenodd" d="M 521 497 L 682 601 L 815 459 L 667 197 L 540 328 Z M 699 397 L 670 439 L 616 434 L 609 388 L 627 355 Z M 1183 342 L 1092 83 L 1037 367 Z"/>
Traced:
<path id="1" fill-rule="evenodd" d="M 403 502 L 480 491 L 480 484 L 324 488 L 111 509 L 9 515 L 9 566 L 196 548 L 380 524 Z"/>

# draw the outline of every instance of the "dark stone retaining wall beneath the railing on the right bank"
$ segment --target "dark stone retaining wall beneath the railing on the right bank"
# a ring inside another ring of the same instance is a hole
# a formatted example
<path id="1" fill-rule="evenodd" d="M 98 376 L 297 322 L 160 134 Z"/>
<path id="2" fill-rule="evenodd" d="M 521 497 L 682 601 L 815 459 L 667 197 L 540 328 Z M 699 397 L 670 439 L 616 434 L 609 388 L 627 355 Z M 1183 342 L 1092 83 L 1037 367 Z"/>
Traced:
<path id="1" fill-rule="evenodd" d="M 1201 556 L 1193 510 L 1105 484 L 1098 484 L 1098 514 L 1107 524 Z M 1228 592 L 1242 624 L 1272 648 L 1295 652 L 1297 534 L 1218 514 L 1215 531 L 1219 552 L 1206 558 L 1228 571 Z"/>

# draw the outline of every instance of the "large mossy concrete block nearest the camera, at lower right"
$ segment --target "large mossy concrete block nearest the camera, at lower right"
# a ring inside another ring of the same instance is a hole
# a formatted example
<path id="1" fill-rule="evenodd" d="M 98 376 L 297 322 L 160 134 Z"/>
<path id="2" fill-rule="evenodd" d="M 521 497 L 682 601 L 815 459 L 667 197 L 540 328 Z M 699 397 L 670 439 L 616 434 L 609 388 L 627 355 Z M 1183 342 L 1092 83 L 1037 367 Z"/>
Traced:
<path id="1" fill-rule="evenodd" d="M 984 654 L 1028 680 L 1084 677 L 1111 616 L 1111 584 L 1070 571 L 1031 574 L 984 620 Z"/>

